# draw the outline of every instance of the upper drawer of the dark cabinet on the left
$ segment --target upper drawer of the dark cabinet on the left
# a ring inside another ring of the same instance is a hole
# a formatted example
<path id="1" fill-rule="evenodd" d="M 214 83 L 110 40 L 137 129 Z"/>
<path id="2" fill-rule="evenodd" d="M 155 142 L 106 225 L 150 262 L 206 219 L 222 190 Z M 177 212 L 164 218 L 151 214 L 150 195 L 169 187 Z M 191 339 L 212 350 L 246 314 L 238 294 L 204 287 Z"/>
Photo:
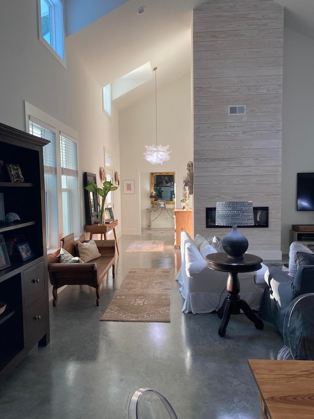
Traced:
<path id="1" fill-rule="evenodd" d="M 27 306 L 45 290 L 44 262 L 39 262 L 24 271 L 25 305 Z"/>

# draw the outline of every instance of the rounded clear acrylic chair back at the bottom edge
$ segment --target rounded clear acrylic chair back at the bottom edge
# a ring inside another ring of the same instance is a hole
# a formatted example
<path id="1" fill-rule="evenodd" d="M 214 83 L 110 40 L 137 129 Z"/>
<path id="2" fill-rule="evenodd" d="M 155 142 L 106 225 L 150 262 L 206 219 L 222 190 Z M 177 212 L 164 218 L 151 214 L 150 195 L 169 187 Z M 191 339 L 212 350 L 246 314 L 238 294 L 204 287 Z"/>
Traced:
<path id="1" fill-rule="evenodd" d="M 129 419 L 178 419 L 168 400 L 156 390 L 134 391 L 129 404 Z"/>

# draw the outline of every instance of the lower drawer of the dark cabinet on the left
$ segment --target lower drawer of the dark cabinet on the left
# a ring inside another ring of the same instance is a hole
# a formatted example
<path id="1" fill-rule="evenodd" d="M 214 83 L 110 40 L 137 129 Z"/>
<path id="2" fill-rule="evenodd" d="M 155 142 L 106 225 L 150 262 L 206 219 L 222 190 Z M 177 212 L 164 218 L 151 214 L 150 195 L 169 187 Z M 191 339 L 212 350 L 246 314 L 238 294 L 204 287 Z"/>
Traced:
<path id="1" fill-rule="evenodd" d="M 26 345 L 34 346 L 47 333 L 48 325 L 49 307 L 45 296 L 26 310 Z"/>

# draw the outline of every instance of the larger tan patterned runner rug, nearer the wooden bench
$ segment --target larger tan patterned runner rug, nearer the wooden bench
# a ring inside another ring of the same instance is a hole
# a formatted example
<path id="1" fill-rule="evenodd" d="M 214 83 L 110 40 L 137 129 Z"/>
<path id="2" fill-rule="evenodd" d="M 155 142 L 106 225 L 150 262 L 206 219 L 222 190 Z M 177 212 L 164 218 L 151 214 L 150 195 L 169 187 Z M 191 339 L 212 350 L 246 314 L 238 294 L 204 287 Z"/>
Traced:
<path id="1" fill-rule="evenodd" d="M 130 269 L 101 320 L 170 323 L 170 269 Z"/>

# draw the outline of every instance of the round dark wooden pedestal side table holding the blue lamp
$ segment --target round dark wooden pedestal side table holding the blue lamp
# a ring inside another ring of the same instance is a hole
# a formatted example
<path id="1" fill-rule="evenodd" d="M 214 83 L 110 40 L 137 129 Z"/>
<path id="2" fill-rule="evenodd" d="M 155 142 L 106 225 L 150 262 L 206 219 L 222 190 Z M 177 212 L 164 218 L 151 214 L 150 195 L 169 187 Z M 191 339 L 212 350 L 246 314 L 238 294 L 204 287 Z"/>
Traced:
<path id="1" fill-rule="evenodd" d="M 239 313 L 240 309 L 255 324 L 257 329 L 263 329 L 264 324 L 262 320 L 252 311 L 246 301 L 240 299 L 240 283 L 237 276 L 238 273 L 253 272 L 261 269 L 262 258 L 254 254 L 244 253 L 243 259 L 231 259 L 227 253 L 210 253 L 205 256 L 205 260 L 209 268 L 229 273 L 227 279 L 227 291 L 229 294 L 225 298 L 222 307 L 217 311 L 218 317 L 222 319 L 218 335 L 224 336 L 226 334 L 231 314 Z"/>

